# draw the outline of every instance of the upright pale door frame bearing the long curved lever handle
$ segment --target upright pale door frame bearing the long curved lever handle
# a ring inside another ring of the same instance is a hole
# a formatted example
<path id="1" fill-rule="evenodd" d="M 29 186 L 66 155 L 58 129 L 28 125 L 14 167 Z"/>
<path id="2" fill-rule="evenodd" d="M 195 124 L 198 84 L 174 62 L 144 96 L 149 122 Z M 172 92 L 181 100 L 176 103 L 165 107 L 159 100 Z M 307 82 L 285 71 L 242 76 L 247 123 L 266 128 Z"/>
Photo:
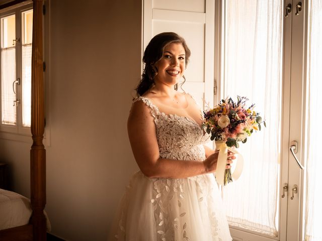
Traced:
<path id="1" fill-rule="evenodd" d="M 291 84 L 290 84 L 290 126 L 289 143 L 297 141 L 297 159 L 305 166 L 304 160 L 304 136 L 305 136 L 305 74 L 304 74 L 304 52 L 305 52 L 305 13 L 306 5 L 302 0 L 302 11 L 296 16 L 296 5 L 299 1 L 292 1 L 292 35 L 291 35 Z M 287 235 L 286 240 L 303 240 L 302 225 L 302 203 L 303 203 L 303 174 L 291 153 L 288 160 L 288 209 L 287 209 Z M 297 185 L 297 194 L 291 200 L 292 188 Z"/>

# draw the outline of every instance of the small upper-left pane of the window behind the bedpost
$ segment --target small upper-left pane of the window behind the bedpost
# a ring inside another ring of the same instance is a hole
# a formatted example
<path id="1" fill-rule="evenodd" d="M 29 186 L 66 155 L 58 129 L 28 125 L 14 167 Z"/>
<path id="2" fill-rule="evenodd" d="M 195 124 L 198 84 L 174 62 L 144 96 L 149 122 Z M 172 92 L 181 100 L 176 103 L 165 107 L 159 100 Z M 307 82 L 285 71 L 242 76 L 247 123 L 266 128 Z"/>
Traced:
<path id="1" fill-rule="evenodd" d="M 1 19 L 1 47 L 10 48 L 16 39 L 16 16 L 11 15 Z"/>

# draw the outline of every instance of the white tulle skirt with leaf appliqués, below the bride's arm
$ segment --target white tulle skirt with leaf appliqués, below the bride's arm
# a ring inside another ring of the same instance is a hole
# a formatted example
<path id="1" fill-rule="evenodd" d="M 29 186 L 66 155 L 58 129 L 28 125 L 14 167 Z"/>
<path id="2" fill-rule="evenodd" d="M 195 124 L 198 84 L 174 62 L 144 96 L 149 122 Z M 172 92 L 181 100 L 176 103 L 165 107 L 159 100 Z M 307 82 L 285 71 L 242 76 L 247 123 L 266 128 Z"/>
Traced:
<path id="1" fill-rule="evenodd" d="M 171 179 L 135 173 L 120 201 L 109 240 L 230 241 L 213 175 Z"/>

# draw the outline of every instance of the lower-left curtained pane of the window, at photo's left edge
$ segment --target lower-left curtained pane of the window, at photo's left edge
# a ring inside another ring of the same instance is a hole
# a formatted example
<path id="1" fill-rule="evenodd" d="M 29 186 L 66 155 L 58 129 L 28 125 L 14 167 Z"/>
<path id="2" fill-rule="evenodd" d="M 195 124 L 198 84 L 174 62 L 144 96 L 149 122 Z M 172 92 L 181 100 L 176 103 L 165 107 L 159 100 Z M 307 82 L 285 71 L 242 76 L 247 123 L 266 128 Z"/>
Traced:
<path id="1" fill-rule="evenodd" d="M 16 95 L 13 82 L 16 79 L 16 49 L 1 50 L 1 111 L 2 124 L 16 125 Z"/>

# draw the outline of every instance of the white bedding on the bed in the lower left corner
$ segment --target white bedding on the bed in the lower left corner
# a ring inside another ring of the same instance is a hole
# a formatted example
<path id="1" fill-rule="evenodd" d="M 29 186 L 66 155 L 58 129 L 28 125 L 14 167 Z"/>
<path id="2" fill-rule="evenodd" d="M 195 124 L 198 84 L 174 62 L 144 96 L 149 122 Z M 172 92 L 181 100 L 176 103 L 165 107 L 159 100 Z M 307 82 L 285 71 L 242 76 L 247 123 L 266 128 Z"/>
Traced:
<path id="1" fill-rule="evenodd" d="M 31 213 L 32 209 L 28 198 L 15 192 L 0 189 L 0 230 L 28 224 Z M 46 219 L 48 230 L 50 223 L 47 215 Z"/>

